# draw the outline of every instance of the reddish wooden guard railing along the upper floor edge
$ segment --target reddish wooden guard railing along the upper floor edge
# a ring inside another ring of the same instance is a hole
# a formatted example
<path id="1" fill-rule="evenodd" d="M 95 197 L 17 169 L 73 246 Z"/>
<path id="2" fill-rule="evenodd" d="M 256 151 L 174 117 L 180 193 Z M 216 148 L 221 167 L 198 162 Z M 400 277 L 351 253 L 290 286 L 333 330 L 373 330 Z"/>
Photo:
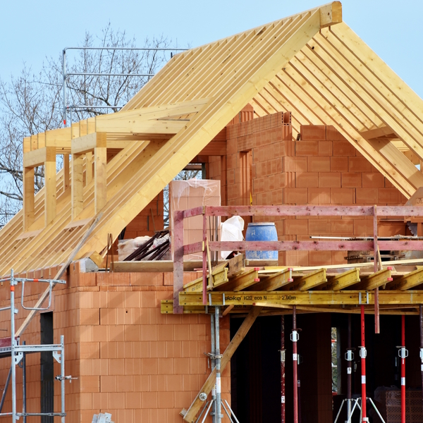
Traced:
<path id="1" fill-rule="evenodd" d="M 203 240 L 183 245 L 183 221 L 203 216 Z M 373 216 L 373 240 L 302 240 L 302 241 L 210 241 L 207 240 L 209 216 Z M 374 251 L 374 269 L 378 268 L 379 250 L 423 250 L 423 240 L 378 240 L 378 217 L 423 216 L 423 207 L 413 206 L 228 206 L 196 207 L 173 213 L 173 313 L 182 313 L 179 293 L 183 290 L 183 256 L 202 252 L 203 304 L 207 304 L 207 245 L 210 251 L 306 250 L 306 251 Z M 375 312 L 378 290 L 375 290 Z M 378 319 L 379 320 L 379 319 Z"/>

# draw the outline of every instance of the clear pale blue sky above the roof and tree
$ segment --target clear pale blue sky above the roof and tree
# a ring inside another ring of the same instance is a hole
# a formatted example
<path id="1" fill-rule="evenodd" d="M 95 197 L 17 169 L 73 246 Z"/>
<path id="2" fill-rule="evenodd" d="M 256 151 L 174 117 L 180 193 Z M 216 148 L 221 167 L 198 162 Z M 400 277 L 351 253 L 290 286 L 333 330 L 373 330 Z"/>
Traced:
<path id="1" fill-rule="evenodd" d="M 111 22 L 142 45 L 145 37 L 165 35 L 197 45 L 307 10 L 319 0 L 214 0 L 58 2 L 2 1 L 0 77 L 19 73 L 23 63 L 39 70 L 46 56 L 58 57 L 63 47 L 82 43 L 85 31 L 100 34 Z M 343 20 L 423 97 L 423 1 L 344 0 Z"/>

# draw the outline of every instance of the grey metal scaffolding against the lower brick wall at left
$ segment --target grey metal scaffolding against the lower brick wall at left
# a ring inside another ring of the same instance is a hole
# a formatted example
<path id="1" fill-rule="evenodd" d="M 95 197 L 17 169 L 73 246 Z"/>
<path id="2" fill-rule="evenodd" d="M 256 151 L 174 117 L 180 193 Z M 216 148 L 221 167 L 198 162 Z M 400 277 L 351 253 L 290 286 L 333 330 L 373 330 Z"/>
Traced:
<path id="1" fill-rule="evenodd" d="M 0 340 L 0 357 L 11 357 L 11 369 L 9 370 L 6 384 L 4 386 L 3 396 L 0 403 L 0 417 L 11 416 L 12 422 L 16 423 L 20 417 L 23 417 L 23 422 L 26 422 L 27 417 L 35 416 L 51 416 L 61 417 L 61 423 L 65 423 L 65 381 L 71 379 L 71 376 L 65 376 L 65 343 L 64 337 L 61 335 L 59 344 L 43 344 L 43 345 L 26 345 L 25 343 L 20 344 L 19 337 L 16 336 L 15 318 L 18 314 L 18 309 L 15 307 L 15 287 L 18 283 L 22 286 L 22 298 L 20 305 L 23 309 L 31 311 L 45 311 L 51 306 L 51 291 L 56 283 L 66 283 L 66 281 L 57 279 L 30 279 L 30 278 L 15 278 L 13 275 L 13 269 L 11 270 L 11 276 L 8 278 L 0 279 L 1 284 L 9 282 L 11 287 L 11 305 L 9 307 L 1 308 L 0 311 L 10 309 L 11 311 L 11 337 Z M 25 283 L 27 282 L 43 282 L 49 283 L 49 302 L 47 307 L 29 307 L 24 304 L 25 297 Z M 26 354 L 51 352 L 54 360 L 61 365 L 61 374 L 56 376 L 56 380 L 61 382 L 61 410 L 60 412 L 27 412 L 26 410 L 26 368 L 25 368 L 25 356 Z M 18 412 L 16 407 L 16 366 L 20 365 L 23 369 L 23 405 L 22 411 Z M 6 392 L 8 384 L 12 384 L 12 411 L 1 412 L 4 400 L 6 398 Z"/>

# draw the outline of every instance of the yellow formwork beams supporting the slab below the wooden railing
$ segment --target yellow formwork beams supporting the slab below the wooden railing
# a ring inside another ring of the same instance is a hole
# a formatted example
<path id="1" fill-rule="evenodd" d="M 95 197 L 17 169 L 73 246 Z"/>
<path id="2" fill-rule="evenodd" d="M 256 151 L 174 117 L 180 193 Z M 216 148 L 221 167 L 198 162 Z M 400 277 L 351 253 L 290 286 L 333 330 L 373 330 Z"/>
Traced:
<path id="1" fill-rule="evenodd" d="M 184 313 L 211 312 L 214 305 L 221 305 L 223 314 L 245 314 L 252 306 L 264 307 L 266 314 L 288 314 L 293 305 L 298 312 L 355 313 L 363 303 L 372 314 L 376 288 L 381 314 L 417 314 L 423 302 L 423 266 L 396 264 L 375 272 L 373 264 L 247 267 L 235 259 L 207 274 L 207 305 L 202 278 L 185 284 L 179 294 Z M 173 301 L 163 300 L 161 312 L 173 313 Z"/>

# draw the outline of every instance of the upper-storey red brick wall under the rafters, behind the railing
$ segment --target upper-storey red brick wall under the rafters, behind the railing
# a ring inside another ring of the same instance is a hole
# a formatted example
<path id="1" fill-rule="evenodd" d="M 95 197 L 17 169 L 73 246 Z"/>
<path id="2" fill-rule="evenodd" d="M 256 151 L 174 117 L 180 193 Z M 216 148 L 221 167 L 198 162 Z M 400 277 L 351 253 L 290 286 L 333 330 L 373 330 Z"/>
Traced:
<path id="1" fill-rule="evenodd" d="M 285 118 L 284 118 L 285 117 Z M 252 204 L 404 204 L 405 197 L 332 126 L 303 125 L 293 140 L 290 114 L 274 114 L 228 125 L 227 202 L 247 204 L 243 196 L 241 153 L 252 152 Z M 209 161 L 212 177 L 221 178 L 217 159 Z M 248 219 L 245 219 L 248 221 Z M 308 240 L 310 235 L 373 234 L 366 218 L 333 217 L 275 221 L 279 240 Z M 405 235 L 401 221 L 381 221 L 379 236 Z M 314 266 L 345 262 L 345 252 L 281 252 L 280 264 Z"/>

